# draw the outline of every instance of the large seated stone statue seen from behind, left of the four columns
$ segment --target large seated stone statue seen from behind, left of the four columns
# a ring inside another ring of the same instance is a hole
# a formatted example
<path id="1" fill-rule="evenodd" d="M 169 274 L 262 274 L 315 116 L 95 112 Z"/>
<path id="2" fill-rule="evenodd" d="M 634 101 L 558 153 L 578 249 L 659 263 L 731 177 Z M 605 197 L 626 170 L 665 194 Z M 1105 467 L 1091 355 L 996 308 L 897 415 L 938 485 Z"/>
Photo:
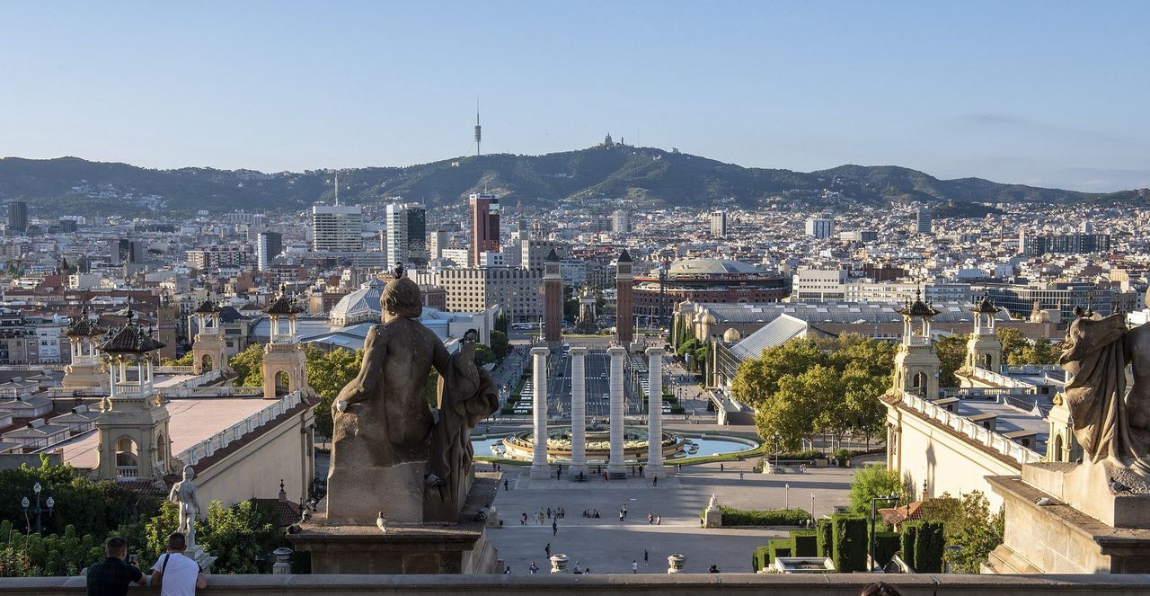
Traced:
<path id="1" fill-rule="evenodd" d="M 498 403 L 486 372 L 474 364 L 474 338 L 450 357 L 419 322 L 422 310 L 419 286 L 397 269 L 384 289 L 383 323 L 363 343 L 359 376 L 332 404 L 331 522 L 369 525 L 381 511 L 399 524 L 427 521 L 428 511 L 443 521 L 459 514 L 461 476 L 470 471 L 468 435 Z M 432 367 L 442 380 L 438 411 L 424 398 Z"/>

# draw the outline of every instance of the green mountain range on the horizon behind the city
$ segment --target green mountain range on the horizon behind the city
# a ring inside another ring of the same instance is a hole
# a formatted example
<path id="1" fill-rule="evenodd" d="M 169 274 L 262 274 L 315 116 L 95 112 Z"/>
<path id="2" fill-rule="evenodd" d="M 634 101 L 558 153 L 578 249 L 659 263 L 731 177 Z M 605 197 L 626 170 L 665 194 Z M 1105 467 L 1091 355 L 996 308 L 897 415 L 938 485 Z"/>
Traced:
<path id="1" fill-rule="evenodd" d="M 78 158 L 0 159 L 0 199 L 24 200 L 32 214 L 143 215 L 298 212 L 334 199 L 335 170 L 264 174 L 214 168 L 148 169 Z M 839 204 L 881 206 L 918 200 L 941 212 L 979 216 L 979 203 L 1116 201 L 1150 205 L 1150 191 L 1087 193 L 1000 184 L 982 178 L 938 179 L 896 166 L 839 166 L 811 173 L 744 168 L 707 158 L 629 145 L 598 145 L 545 155 L 490 154 L 408 167 L 339 170 L 340 201 L 378 204 L 391 197 L 428 208 L 461 206 L 471 192 L 497 193 L 505 204 L 544 206 L 597 197 L 638 206 L 774 203 L 797 208 Z M 942 215 L 943 213 L 940 213 Z"/>

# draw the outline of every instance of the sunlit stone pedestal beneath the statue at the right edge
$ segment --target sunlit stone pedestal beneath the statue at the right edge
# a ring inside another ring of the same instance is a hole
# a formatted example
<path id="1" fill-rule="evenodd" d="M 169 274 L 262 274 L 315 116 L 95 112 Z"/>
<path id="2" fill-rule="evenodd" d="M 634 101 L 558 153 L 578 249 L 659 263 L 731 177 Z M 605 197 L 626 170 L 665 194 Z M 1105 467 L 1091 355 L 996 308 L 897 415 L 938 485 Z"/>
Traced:
<path id="1" fill-rule="evenodd" d="M 1116 495 L 1113 472 L 1028 464 L 1021 476 L 987 476 L 1003 497 L 1006 532 L 983 572 L 1150 573 L 1150 494 Z"/>

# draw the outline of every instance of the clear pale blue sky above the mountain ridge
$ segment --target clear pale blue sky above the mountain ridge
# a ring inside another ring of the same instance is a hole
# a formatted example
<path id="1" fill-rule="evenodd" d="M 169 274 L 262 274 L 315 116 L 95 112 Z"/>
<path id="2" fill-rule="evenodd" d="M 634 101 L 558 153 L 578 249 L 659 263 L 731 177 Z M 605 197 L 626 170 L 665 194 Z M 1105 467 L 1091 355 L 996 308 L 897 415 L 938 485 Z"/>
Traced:
<path id="1" fill-rule="evenodd" d="M 0 155 L 266 171 L 618 140 L 1150 186 L 1150 2 L 0 3 Z"/>

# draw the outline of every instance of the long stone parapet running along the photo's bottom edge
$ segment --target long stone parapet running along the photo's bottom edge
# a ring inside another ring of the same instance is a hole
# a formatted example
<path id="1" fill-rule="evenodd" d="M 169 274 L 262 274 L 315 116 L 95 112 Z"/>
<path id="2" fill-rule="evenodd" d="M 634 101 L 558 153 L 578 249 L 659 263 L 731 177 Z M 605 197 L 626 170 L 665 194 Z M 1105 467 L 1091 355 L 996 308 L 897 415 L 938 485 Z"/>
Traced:
<path id="1" fill-rule="evenodd" d="M 690 560 L 687 561 L 690 564 Z M 752 574 L 674 573 L 644 575 L 209 575 L 198 596 L 366 595 L 404 596 L 586 595 L 614 596 L 727 596 L 785 594 L 796 596 L 857 596 L 873 581 L 885 581 L 904 596 L 1090 594 L 1091 596 L 1150 595 L 1150 575 L 934 575 L 934 574 Z M 130 593 L 154 595 L 151 588 Z M 5 578 L 0 595 L 79 596 L 84 578 Z"/>

